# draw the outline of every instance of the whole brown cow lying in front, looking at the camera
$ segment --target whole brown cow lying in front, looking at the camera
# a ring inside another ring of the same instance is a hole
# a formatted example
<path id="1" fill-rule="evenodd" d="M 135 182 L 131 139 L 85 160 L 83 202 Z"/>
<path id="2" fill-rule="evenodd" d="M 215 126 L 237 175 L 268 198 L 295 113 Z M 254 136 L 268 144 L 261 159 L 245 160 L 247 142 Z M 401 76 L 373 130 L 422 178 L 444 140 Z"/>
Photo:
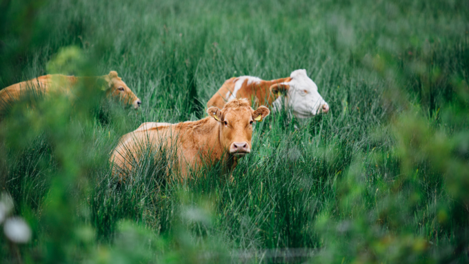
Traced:
<path id="1" fill-rule="evenodd" d="M 252 110 L 248 100 L 232 99 L 222 110 L 212 107 L 207 113 L 210 116 L 199 121 L 143 123 L 122 136 L 110 157 L 114 163 L 112 173 L 122 177 L 130 172 L 139 163 L 142 146 L 153 150 L 173 148 L 175 159 L 170 166 L 181 172 L 183 178 L 190 170 L 203 164 L 213 165 L 221 159 L 223 170 L 232 172 L 238 159 L 251 151 L 252 123 L 262 121 L 270 111 L 265 106 Z"/>

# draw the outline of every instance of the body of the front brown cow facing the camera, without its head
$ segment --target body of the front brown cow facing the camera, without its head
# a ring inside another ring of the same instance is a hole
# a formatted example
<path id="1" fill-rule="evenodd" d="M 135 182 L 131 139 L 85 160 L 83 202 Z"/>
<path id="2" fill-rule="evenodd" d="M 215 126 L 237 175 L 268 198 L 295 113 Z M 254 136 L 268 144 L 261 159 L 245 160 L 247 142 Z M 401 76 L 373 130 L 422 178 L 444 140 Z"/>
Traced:
<path id="1" fill-rule="evenodd" d="M 201 164 L 202 158 L 221 156 L 220 148 L 205 143 L 208 139 L 206 135 L 212 132 L 213 123 L 210 122 L 217 123 L 210 117 L 177 124 L 142 123 L 137 130 L 123 135 L 112 151 L 112 174 L 122 179 L 134 164 L 139 163 L 142 154 L 150 151 L 156 155 L 165 153 L 170 161 L 168 167 L 177 167 L 181 175 L 187 176 L 188 167 L 195 168 Z"/>

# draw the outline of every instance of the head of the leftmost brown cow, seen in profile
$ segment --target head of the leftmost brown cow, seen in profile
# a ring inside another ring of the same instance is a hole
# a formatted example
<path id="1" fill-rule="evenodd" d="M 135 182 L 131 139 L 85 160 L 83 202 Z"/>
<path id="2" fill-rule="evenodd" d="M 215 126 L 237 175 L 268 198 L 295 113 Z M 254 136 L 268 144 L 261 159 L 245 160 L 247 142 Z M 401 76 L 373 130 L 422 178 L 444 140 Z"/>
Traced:
<path id="1" fill-rule="evenodd" d="M 123 101 L 126 105 L 132 105 L 134 109 L 140 107 L 140 99 L 128 88 L 126 83 L 117 76 L 117 72 L 113 70 L 108 75 L 104 76 L 104 79 L 108 83 L 106 89 L 106 96 L 112 97 L 117 100 Z"/>

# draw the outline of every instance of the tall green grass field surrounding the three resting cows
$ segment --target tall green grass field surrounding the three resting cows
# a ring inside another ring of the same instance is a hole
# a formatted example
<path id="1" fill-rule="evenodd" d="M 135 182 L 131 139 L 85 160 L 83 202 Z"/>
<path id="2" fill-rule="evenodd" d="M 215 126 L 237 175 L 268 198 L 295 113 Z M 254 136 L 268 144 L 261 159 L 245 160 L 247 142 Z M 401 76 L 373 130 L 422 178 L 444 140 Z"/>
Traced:
<path id="1" fill-rule="evenodd" d="M 126 110 L 83 88 L 74 105 L 50 99 L 6 116 L 2 201 L 12 197 L 10 216 L 32 238 L 0 232 L 1 263 L 469 261 L 468 1 L 25 0 L 0 10 L 0 88 L 116 70 L 142 101 Z M 151 155 L 133 181 L 110 175 L 109 153 L 141 123 L 201 119 L 226 79 L 297 69 L 330 112 L 257 124 L 234 181 L 219 165 L 166 179 L 167 162 Z"/>

